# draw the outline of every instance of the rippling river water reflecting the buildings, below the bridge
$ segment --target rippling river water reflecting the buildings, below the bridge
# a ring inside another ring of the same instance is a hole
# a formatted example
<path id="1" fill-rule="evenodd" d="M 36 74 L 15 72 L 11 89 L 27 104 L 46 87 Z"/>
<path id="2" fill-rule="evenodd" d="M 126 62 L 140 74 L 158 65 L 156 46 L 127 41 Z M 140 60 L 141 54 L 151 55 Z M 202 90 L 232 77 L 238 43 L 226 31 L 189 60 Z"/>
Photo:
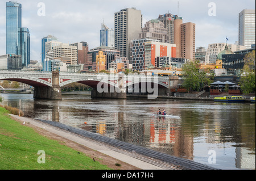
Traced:
<path id="1" fill-rule="evenodd" d="M 1 94 L 1 104 L 25 117 L 60 123 L 191 159 L 217 169 L 255 169 L 255 103 L 63 96 L 34 100 L 31 94 Z M 167 117 L 152 113 L 165 109 Z"/>

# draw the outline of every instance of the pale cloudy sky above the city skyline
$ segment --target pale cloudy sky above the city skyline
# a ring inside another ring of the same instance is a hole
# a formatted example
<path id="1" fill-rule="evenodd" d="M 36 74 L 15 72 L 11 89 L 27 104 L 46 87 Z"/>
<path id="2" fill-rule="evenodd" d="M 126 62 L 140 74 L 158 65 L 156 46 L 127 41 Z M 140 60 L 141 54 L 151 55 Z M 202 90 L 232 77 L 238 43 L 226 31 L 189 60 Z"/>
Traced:
<path id="1" fill-rule="evenodd" d="M 16 0 L 13 0 L 16 1 Z M 114 13 L 135 7 L 144 24 L 161 14 L 178 14 L 196 24 L 196 47 L 238 41 L 238 14 L 255 9 L 254 0 L 17 0 L 22 4 L 22 27 L 31 34 L 31 60 L 41 60 L 42 38 L 53 35 L 63 43 L 86 41 L 100 46 L 101 23 L 114 29 Z M 179 3 L 178 3 L 179 2 Z M 6 1 L 0 0 L 0 55 L 6 53 Z M 178 9 L 179 4 L 179 9 Z"/>

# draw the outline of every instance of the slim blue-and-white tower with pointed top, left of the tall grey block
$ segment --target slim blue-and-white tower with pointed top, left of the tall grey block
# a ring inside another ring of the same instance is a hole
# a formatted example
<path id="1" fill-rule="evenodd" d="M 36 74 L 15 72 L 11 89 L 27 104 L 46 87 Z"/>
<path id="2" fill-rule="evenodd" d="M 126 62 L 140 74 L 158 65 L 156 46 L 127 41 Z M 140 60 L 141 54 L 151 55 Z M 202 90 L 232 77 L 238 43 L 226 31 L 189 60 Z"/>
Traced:
<path id="1" fill-rule="evenodd" d="M 100 46 L 115 47 L 115 31 L 108 28 L 104 23 L 101 24 Z"/>

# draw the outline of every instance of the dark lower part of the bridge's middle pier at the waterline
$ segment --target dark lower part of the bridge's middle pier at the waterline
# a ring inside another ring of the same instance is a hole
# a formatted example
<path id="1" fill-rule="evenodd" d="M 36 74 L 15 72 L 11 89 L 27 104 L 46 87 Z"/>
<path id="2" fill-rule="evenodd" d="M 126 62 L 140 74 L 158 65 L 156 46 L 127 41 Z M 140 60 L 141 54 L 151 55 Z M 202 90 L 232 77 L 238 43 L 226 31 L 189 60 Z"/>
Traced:
<path id="1" fill-rule="evenodd" d="M 92 89 L 91 98 L 111 98 L 111 99 L 126 99 L 126 92 L 98 92 L 97 89 Z"/>

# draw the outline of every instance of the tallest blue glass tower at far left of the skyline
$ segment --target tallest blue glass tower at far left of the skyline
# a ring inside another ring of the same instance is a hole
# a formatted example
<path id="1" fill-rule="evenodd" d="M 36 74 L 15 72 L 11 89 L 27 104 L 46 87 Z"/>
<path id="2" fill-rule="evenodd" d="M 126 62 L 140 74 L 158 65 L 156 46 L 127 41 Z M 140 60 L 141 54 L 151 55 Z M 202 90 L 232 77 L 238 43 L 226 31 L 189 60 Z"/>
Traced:
<path id="1" fill-rule="evenodd" d="M 18 54 L 21 27 L 22 5 L 17 2 L 6 2 L 6 54 Z"/>

